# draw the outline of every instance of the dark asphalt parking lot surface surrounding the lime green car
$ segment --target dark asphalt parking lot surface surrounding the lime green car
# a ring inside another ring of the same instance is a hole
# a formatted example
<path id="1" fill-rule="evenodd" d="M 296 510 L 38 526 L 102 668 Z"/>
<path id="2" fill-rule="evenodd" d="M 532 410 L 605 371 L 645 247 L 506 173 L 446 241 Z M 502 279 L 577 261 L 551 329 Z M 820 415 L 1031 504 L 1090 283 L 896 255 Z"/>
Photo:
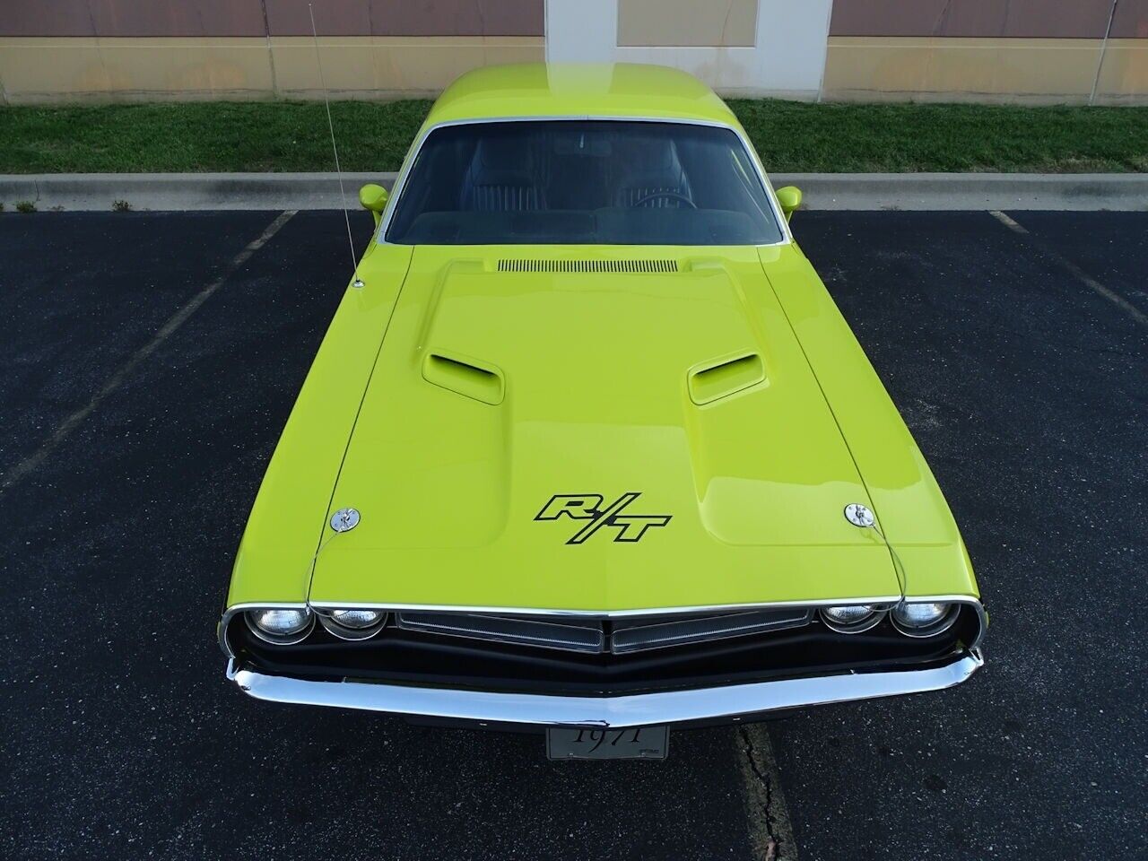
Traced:
<path id="1" fill-rule="evenodd" d="M 348 280 L 338 212 L 235 265 L 277 215 L 0 216 L 0 856 L 1148 856 L 1148 214 L 796 217 L 961 523 L 988 665 L 661 763 L 224 680 L 232 554 Z"/>

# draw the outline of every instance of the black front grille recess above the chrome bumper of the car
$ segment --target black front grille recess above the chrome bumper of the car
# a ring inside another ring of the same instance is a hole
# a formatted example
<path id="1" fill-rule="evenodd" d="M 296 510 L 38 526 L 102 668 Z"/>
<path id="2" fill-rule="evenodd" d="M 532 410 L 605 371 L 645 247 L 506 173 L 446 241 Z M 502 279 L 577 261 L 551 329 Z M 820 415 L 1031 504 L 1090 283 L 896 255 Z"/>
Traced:
<path id="1" fill-rule="evenodd" d="M 662 616 L 633 621 L 657 625 L 674 620 Z M 587 620 L 579 623 L 582 621 Z M 621 623 L 616 628 L 610 622 L 600 623 L 606 636 L 626 629 Z M 625 653 L 440 636 L 401 628 L 394 623 L 394 616 L 370 639 L 347 642 L 317 627 L 302 643 L 281 646 L 255 637 L 238 613 L 228 625 L 226 638 L 241 665 L 272 675 L 486 691 L 620 696 L 859 672 L 878 666 L 926 666 L 946 660 L 957 643 L 972 642 L 978 631 L 977 614 L 967 605 L 956 625 L 923 639 L 906 637 L 889 620 L 863 634 L 837 634 L 814 618 L 808 625 L 753 636 Z"/>

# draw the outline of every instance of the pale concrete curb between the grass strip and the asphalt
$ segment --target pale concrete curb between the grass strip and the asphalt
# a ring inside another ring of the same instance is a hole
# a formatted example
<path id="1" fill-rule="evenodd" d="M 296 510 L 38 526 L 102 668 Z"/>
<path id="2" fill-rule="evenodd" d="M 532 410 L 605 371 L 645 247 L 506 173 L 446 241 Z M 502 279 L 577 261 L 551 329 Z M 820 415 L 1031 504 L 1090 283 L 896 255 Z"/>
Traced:
<path id="1" fill-rule="evenodd" d="M 1148 210 L 1148 173 L 775 173 L 797 185 L 806 209 Z M 344 173 L 347 204 L 365 183 L 388 188 L 394 173 Z M 0 174 L 6 210 L 32 201 L 40 211 L 339 209 L 334 173 Z"/>

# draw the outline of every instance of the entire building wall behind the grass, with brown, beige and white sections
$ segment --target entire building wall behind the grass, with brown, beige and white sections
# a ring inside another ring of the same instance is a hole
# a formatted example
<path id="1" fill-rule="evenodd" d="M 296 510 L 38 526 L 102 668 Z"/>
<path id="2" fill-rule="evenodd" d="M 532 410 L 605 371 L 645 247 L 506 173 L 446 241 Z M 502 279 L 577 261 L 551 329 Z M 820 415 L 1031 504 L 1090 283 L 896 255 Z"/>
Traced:
<path id="1" fill-rule="evenodd" d="M 0 103 L 317 98 L 307 0 L 0 0 Z M 439 93 L 550 59 L 734 96 L 1148 103 L 1148 0 L 332 0 L 329 92 Z M 545 36 L 543 36 L 545 33 Z"/>

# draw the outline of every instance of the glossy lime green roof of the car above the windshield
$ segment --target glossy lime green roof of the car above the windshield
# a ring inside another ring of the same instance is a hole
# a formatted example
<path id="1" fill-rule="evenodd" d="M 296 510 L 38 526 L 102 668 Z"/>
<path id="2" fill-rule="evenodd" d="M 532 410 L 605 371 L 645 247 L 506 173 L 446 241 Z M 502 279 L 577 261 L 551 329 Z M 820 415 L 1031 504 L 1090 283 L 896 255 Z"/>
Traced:
<path id="1" fill-rule="evenodd" d="M 639 63 L 521 63 L 470 71 L 443 92 L 426 126 L 519 117 L 636 117 L 739 127 L 692 75 Z"/>

